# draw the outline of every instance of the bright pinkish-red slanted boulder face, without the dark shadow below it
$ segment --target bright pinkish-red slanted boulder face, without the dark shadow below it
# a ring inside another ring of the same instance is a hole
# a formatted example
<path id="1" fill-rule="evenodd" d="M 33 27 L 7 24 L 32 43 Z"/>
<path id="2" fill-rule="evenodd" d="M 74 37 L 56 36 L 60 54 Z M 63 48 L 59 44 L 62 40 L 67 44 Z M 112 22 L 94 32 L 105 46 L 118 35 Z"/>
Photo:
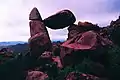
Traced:
<path id="1" fill-rule="evenodd" d="M 61 46 L 76 50 L 93 50 L 97 46 L 111 45 L 112 42 L 103 38 L 94 31 L 87 31 L 74 36 L 72 39 L 65 41 Z"/>

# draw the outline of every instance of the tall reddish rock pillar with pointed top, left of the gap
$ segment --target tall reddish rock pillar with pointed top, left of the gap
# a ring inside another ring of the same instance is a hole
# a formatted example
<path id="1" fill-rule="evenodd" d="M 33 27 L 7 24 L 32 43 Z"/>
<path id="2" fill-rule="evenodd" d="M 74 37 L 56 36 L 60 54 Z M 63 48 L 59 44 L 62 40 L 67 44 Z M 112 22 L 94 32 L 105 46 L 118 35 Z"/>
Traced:
<path id="1" fill-rule="evenodd" d="M 37 15 L 36 15 L 37 13 Z M 30 34 L 29 47 L 31 55 L 39 56 L 44 51 L 51 50 L 51 41 L 48 35 L 48 31 L 38 16 L 38 10 L 34 8 L 30 13 Z M 40 15 L 40 14 L 39 14 Z M 34 18 L 34 19 L 33 19 Z"/>

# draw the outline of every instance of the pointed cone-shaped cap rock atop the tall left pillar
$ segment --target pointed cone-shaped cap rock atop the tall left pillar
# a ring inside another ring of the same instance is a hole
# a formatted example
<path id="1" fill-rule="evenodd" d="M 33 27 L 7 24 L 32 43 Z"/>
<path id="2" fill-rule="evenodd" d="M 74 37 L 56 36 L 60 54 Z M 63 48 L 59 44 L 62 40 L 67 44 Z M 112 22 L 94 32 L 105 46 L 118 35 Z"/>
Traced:
<path id="1" fill-rule="evenodd" d="M 42 21 L 41 15 L 36 7 L 32 9 L 29 14 L 29 20 L 40 20 Z"/>

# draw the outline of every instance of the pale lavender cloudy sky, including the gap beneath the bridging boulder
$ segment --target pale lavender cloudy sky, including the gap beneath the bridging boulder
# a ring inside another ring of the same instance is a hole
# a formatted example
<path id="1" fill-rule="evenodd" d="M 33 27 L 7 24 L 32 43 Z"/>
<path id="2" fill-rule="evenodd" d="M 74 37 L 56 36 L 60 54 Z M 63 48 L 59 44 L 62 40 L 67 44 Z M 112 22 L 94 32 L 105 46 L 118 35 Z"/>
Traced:
<path id="1" fill-rule="evenodd" d="M 64 9 L 71 10 L 76 22 L 89 21 L 107 26 L 120 15 L 120 0 L 0 0 L 0 42 L 28 41 L 29 13 L 37 7 L 42 18 Z M 48 29 L 51 40 L 66 40 L 67 28 Z"/>

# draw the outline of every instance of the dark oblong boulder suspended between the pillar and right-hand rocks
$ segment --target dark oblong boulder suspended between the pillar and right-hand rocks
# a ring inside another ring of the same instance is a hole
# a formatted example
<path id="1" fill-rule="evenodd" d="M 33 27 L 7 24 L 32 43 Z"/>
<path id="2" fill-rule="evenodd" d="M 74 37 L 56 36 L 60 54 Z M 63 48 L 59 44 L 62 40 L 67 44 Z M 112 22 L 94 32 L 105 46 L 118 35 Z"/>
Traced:
<path id="1" fill-rule="evenodd" d="M 51 29 L 65 28 L 76 21 L 74 14 L 70 10 L 62 10 L 46 19 L 44 23 Z"/>

